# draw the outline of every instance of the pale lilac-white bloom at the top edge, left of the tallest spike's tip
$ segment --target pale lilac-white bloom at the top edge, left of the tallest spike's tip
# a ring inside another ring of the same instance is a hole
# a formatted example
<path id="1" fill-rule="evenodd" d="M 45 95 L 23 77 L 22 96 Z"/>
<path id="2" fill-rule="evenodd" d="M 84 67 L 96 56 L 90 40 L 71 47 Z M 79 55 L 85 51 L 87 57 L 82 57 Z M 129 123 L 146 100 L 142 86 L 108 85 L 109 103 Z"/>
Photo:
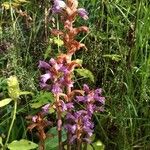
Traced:
<path id="1" fill-rule="evenodd" d="M 66 3 L 62 0 L 54 0 L 54 6 L 52 8 L 53 13 L 59 13 L 66 7 Z"/>

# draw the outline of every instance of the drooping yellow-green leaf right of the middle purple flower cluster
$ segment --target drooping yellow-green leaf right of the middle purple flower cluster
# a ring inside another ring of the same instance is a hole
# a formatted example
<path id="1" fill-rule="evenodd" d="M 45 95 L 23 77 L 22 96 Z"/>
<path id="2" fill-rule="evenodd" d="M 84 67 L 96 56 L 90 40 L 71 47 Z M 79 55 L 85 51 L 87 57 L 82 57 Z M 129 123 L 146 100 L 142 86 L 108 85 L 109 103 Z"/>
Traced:
<path id="1" fill-rule="evenodd" d="M 94 82 L 94 75 L 88 69 L 75 69 L 75 71 L 84 78 L 89 78 L 92 82 Z"/>

